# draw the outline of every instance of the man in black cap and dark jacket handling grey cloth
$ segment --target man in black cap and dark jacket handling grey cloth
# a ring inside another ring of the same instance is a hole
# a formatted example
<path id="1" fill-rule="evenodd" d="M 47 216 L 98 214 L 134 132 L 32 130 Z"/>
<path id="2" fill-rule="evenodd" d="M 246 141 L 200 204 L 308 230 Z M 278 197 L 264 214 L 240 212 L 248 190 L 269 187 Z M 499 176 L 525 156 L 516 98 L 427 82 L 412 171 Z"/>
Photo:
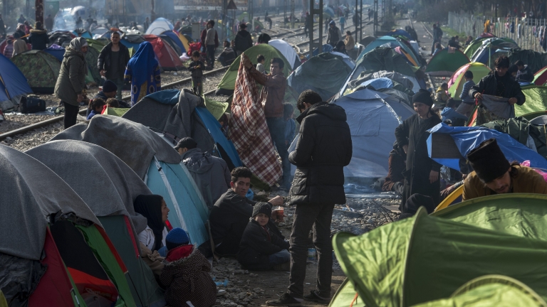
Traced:
<path id="1" fill-rule="evenodd" d="M 493 95 L 509 98 L 509 104 L 522 105 L 526 102 L 526 97 L 522 93 L 521 85 L 511 78 L 507 73 L 509 70 L 509 58 L 501 56 L 494 62 L 495 70 L 490 75 L 483 77 L 477 85 L 474 85 L 469 91 L 469 95 L 482 100 L 482 95 Z M 476 124 L 486 124 L 496 119 L 504 119 L 486 109 L 479 104 L 476 115 Z"/>

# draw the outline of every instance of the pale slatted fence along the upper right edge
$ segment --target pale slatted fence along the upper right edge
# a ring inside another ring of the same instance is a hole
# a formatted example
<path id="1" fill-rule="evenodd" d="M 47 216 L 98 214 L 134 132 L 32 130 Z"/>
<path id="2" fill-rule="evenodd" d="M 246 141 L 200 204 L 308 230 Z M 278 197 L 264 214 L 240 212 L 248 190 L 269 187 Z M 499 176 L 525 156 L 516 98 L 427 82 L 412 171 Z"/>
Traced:
<path id="1" fill-rule="evenodd" d="M 489 21 L 488 26 L 486 26 L 487 21 Z M 545 36 L 547 26 L 546 19 L 476 17 L 472 14 L 449 12 L 448 26 L 459 33 L 473 36 L 473 38 L 480 36 L 487 30 L 495 36 L 513 39 L 523 50 L 534 50 L 541 53 L 546 51 L 541 46 L 541 36 Z"/>

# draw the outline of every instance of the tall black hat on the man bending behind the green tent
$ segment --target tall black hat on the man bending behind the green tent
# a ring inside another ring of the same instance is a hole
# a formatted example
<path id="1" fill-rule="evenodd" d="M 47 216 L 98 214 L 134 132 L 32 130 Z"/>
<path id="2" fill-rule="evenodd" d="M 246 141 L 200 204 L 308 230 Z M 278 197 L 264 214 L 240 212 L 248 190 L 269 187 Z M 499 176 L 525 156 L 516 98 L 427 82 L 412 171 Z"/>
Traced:
<path id="1" fill-rule="evenodd" d="M 467 154 L 467 160 L 481 181 L 489 183 L 509 171 L 509 161 L 499 149 L 496 139 L 487 139 Z"/>

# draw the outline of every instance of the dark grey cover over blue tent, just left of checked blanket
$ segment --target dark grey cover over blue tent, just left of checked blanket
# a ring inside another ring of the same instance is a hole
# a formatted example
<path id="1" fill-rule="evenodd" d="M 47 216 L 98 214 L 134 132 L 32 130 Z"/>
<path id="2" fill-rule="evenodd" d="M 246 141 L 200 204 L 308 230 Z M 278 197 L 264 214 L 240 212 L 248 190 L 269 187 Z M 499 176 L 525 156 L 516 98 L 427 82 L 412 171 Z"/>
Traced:
<path id="1" fill-rule="evenodd" d="M 160 95 L 160 93 L 162 95 Z M 173 95 L 166 95 L 172 93 Z M 148 95 L 123 114 L 123 118 L 145 126 L 165 131 L 178 139 L 192 137 L 203 152 L 211 151 L 214 141 L 207 127 L 194 113 L 196 107 L 205 107 L 204 99 L 197 97 L 189 90 L 165 90 Z M 178 103 L 172 104 L 173 97 L 178 95 Z"/>

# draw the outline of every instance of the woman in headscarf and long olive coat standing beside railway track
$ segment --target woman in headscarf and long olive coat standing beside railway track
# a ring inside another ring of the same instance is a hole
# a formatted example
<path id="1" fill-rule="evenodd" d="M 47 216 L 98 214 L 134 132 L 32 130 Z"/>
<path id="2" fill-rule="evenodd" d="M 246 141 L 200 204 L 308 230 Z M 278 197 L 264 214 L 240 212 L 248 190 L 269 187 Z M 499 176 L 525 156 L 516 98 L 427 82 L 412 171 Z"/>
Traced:
<path id="1" fill-rule="evenodd" d="M 85 62 L 87 52 L 88 42 L 80 37 L 71 41 L 63 55 L 55 95 L 65 107 L 65 129 L 76 124 L 80 102 L 83 101 L 85 75 L 88 74 L 88 63 Z"/>

